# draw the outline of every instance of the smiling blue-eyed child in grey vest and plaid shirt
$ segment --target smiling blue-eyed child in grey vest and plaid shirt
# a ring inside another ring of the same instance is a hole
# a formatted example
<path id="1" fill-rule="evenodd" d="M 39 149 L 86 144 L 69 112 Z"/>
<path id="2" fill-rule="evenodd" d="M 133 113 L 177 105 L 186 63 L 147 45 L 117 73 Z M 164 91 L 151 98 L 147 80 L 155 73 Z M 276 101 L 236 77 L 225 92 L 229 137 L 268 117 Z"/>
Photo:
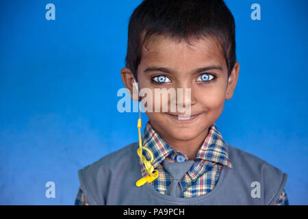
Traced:
<path id="1" fill-rule="evenodd" d="M 190 89 L 183 105 L 191 113 L 180 119 L 179 110 L 146 112 L 140 144 L 79 170 L 75 204 L 287 205 L 287 175 L 227 144 L 216 127 L 240 69 L 235 23 L 224 2 L 145 0 L 131 15 L 128 34 L 125 87 L 131 93 L 134 82 L 153 93 Z"/>

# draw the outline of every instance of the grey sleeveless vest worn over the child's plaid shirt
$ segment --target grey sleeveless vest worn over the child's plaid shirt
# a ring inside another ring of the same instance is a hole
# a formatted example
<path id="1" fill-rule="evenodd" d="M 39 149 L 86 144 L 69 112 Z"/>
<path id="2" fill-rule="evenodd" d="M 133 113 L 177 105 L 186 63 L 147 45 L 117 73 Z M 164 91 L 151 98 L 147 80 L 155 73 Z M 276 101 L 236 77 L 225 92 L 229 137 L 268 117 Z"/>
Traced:
<path id="1" fill-rule="evenodd" d="M 90 205 L 273 205 L 287 174 L 262 159 L 227 145 L 233 168 L 223 166 L 211 192 L 179 198 L 157 192 L 142 177 L 138 143 L 129 144 L 78 171 L 81 188 Z"/>

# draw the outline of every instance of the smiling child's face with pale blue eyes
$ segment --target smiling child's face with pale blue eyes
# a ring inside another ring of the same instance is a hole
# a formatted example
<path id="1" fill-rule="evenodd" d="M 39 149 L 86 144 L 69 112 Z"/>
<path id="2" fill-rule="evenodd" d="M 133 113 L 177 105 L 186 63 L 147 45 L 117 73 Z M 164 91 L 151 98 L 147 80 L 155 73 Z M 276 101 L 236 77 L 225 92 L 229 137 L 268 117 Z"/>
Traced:
<path id="1" fill-rule="evenodd" d="M 138 66 L 139 88 L 150 88 L 153 94 L 155 88 L 184 88 L 183 96 L 185 88 L 190 88 L 191 119 L 179 120 L 172 115 L 183 113 L 170 111 L 146 112 L 146 115 L 155 131 L 165 140 L 193 140 L 207 133 L 222 113 L 224 100 L 231 99 L 238 79 L 238 62 L 228 80 L 226 61 L 214 40 L 198 40 L 190 46 L 185 40 L 157 39 L 149 40 L 142 47 L 142 59 Z M 146 70 L 149 68 L 164 68 L 168 72 L 162 69 Z M 155 83 L 158 79 L 165 82 Z"/>

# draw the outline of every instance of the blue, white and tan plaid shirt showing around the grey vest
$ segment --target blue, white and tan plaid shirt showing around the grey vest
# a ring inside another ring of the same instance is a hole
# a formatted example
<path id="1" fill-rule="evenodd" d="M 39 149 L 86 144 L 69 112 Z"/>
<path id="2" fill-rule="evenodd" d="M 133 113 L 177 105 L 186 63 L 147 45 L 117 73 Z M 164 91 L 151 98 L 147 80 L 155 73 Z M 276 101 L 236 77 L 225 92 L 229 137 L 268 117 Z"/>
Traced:
<path id="1" fill-rule="evenodd" d="M 177 162 L 177 156 L 179 155 L 184 157 L 185 160 L 188 160 L 188 157 L 172 149 L 151 127 L 150 123 L 147 123 L 144 129 L 142 145 L 152 151 L 152 164 L 159 171 L 159 177 L 150 184 L 157 192 L 165 194 L 172 181 L 172 177 L 170 177 L 169 173 L 162 166 L 162 161 L 167 159 L 169 162 Z M 145 150 L 143 154 L 149 159 L 149 155 L 147 155 Z M 232 168 L 229 155 L 225 148 L 225 142 L 215 123 L 209 127 L 209 133 L 194 160 L 195 163 L 192 168 L 190 168 L 181 180 L 184 198 L 197 197 L 211 192 L 219 179 L 222 165 Z M 146 176 L 140 160 L 139 163 L 142 176 Z M 75 205 L 89 205 L 81 188 L 79 188 Z M 283 190 L 275 205 L 289 205 L 285 190 Z"/>

